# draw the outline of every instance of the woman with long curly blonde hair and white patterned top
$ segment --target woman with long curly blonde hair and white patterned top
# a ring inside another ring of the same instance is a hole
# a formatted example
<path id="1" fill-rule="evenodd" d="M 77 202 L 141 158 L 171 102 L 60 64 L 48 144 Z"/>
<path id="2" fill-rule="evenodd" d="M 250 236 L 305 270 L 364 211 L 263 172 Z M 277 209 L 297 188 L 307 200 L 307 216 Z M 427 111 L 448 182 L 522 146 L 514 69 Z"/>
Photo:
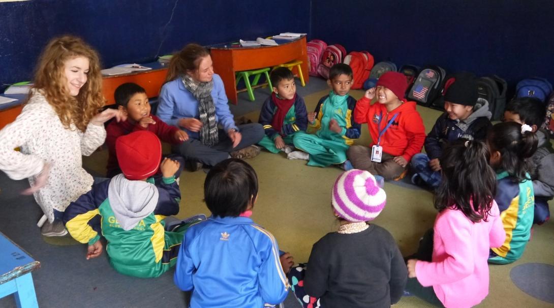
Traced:
<path id="1" fill-rule="evenodd" d="M 81 156 L 104 143 L 104 122 L 122 117 L 113 109 L 99 113 L 101 88 L 95 50 L 78 37 L 54 38 L 40 56 L 23 111 L 0 131 L 0 170 L 12 179 L 29 179 L 23 193 L 32 193 L 48 218 L 43 235 L 67 233 L 61 214 L 93 184 Z"/>

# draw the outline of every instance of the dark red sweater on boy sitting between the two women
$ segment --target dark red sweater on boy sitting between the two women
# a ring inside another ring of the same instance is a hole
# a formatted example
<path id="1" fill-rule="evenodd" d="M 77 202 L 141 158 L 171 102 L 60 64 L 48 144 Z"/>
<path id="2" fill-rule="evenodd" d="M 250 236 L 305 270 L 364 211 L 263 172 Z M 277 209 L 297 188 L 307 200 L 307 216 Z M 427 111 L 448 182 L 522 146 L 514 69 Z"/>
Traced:
<path id="1" fill-rule="evenodd" d="M 175 139 L 175 133 L 179 130 L 178 127 L 167 125 L 155 115 L 150 116 L 152 117 L 152 120 L 156 122 L 156 124 L 149 124 L 146 128 L 140 126 L 138 122 L 136 124 L 132 124 L 131 122 L 129 122 L 129 120 L 121 122 L 111 121 L 110 124 L 106 127 L 106 143 L 108 150 L 106 169 L 109 177 L 121 173 L 119 162 L 117 162 L 117 155 L 115 152 L 115 141 L 120 136 L 130 134 L 134 131 L 147 130 L 156 134 L 156 136 L 158 136 L 158 138 L 160 138 L 160 140 L 163 142 L 172 144 L 181 142 Z"/>

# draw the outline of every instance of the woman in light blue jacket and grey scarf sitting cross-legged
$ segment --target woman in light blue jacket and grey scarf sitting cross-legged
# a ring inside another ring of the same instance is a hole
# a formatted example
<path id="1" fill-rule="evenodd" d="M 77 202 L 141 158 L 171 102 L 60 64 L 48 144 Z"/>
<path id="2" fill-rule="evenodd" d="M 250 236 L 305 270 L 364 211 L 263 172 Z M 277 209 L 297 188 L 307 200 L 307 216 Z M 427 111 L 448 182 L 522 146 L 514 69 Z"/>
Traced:
<path id="1" fill-rule="evenodd" d="M 227 103 L 223 81 L 213 73 L 206 48 L 188 44 L 173 56 L 157 116 L 188 133 L 189 140 L 172 150 L 186 158 L 192 171 L 229 156 L 258 155 L 259 148 L 253 145 L 264 136 L 263 127 L 257 123 L 236 126 Z"/>

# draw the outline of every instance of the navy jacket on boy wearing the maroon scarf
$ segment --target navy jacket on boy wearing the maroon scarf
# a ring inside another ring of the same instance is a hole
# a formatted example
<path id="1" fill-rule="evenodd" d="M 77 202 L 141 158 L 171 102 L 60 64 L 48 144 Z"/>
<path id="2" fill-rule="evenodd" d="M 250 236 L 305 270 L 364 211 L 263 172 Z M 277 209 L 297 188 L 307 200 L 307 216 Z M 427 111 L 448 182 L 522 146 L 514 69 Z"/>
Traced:
<path id="1" fill-rule="evenodd" d="M 289 112 L 287 112 L 280 132 L 276 131 L 273 126 L 271 126 L 273 116 L 277 110 L 275 102 L 273 102 L 271 97 L 273 97 L 273 95 L 270 95 L 261 106 L 260 117 L 258 120 L 259 124 L 264 126 L 266 136 L 271 138 L 271 140 L 275 140 L 275 138 L 279 135 L 286 137 L 297 131 L 306 131 L 308 125 L 306 104 L 300 95 L 296 94 L 294 104 L 290 107 Z"/>

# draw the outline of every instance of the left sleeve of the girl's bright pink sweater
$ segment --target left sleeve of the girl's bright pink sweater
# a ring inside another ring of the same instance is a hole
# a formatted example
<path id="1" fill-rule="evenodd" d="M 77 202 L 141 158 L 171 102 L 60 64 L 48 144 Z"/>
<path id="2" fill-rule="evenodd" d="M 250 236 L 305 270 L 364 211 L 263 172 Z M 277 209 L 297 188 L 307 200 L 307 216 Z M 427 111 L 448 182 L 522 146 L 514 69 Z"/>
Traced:
<path id="1" fill-rule="evenodd" d="M 416 275 L 422 286 L 453 283 L 473 273 L 471 222 L 463 213 L 445 211 L 434 227 L 435 245 L 443 245 L 445 258 L 439 262 L 417 261 Z"/>

